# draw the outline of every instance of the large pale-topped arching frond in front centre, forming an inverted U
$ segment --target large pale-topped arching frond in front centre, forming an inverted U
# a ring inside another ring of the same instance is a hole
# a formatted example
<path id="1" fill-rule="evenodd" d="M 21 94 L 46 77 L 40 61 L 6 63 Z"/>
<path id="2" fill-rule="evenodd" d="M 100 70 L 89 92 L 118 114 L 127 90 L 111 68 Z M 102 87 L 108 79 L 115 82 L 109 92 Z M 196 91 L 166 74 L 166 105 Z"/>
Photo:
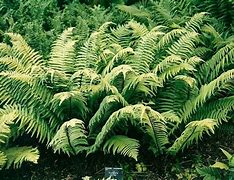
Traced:
<path id="1" fill-rule="evenodd" d="M 148 106 L 142 104 L 129 105 L 119 109 L 111 114 L 102 127 L 101 132 L 97 135 L 95 143 L 90 147 L 88 153 L 95 152 L 106 139 L 106 136 L 114 130 L 114 128 L 126 120 L 134 126 L 142 128 L 143 132 L 152 140 L 150 149 L 155 153 L 162 153 L 164 145 L 168 143 L 166 125 L 160 113 L 152 110 Z"/>

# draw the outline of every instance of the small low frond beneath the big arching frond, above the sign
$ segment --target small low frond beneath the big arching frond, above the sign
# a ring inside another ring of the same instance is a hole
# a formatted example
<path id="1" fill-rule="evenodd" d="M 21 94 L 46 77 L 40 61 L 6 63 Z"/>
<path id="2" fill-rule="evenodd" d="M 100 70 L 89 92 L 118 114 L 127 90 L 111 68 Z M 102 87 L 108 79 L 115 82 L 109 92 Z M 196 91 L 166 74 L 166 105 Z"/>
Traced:
<path id="1" fill-rule="evenodd" d="M 139 154 L 139 141 L 129 138 L 127 136 L 116 135 L 108 139 L 103 145 L 103 151 L 105 153 L 121 154 L 128 156 L 137 161 Z"/>

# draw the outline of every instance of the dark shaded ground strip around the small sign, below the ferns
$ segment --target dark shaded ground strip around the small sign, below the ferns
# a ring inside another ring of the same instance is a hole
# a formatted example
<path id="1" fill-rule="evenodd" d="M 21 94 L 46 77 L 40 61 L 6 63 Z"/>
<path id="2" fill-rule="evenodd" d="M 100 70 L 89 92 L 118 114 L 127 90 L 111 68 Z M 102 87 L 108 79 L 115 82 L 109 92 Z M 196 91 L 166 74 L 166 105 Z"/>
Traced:
<path id="1" fill-rule="evenodd" d="M 219 141 L 217 141 L 219 139 Z M 58 156 L 50 150 L 41 150 L 38 165 L 25 163 L 18 170 L 0 172 L 1 179 L 82 179 L 92 176 L 94 179 L 104 176 L 104 167 L 122 167 L 126 179 L 201 179 L 195 167 L 225 161 L 219 147 L 233 153 L 234 136 L 223 135 L 204 139 L 197 146 L 187 149 L 176 158 L 160 157 L 150 159 L 147 155 L 141 162 L 126 158 L 93 154 L 88 157 Z"/>

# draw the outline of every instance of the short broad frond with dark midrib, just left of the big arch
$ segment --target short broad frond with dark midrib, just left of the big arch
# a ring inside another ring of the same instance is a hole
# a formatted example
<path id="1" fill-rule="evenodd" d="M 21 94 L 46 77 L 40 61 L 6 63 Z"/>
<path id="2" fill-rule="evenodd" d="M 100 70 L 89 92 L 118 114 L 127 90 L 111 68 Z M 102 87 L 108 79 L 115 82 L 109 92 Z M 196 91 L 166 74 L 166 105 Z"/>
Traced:
<path id="1" fill-rule="evenodd" d="M 87 145 L 84 122 L 79 119 L 63 123 L 49 144 L 54 152 L 62 151 L 68 155 L 84 151 Z"/>

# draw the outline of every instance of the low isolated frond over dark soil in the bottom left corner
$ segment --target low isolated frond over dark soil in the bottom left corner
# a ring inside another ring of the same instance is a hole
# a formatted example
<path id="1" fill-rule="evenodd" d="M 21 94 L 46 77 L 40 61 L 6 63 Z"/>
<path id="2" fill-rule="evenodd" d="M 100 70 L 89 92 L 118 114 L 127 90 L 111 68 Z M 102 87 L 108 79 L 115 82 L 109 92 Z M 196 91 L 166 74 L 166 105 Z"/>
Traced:
<path id="1" fill-rule="evenodd" d="M 3 151 L 7 157 L 5 168 L 8 169 L 11 166 L 13 168 L 20 168 L 24 161 L 29 161 L 37 164 L 39 159 L 39 151 L 37 148 L 22 146 L 12 147 Z"/>

